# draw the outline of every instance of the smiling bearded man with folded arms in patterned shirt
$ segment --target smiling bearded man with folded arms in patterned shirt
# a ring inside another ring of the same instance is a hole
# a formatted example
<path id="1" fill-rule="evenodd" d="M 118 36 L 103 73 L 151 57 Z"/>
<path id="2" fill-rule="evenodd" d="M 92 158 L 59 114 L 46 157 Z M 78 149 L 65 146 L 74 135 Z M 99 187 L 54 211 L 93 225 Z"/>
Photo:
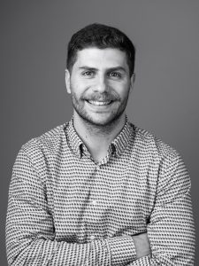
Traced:
<path id="1" fill-rule="evenodd" d="M 23 145 L 13 167 L 9 265 L 194 265 L 187 169 L 126 117 L 134 44 L 89 25 L 66 65 L 72 120 Z"/>

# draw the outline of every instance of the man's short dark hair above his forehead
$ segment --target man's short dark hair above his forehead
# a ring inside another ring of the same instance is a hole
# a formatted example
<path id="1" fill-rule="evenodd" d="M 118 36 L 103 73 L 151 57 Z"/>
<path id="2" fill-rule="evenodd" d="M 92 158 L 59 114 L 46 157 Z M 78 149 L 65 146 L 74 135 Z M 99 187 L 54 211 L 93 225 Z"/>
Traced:
<path id="1" fill-rule="evenodd" d="M 134 44 L 118 28 L 94 23 L 76 32 L 68 43 L 66 67 L 70 72 L 77 59 L 77 52 L 88 47 L 117 48 L 125 51 L 129 74 L 134 74 Z"/>

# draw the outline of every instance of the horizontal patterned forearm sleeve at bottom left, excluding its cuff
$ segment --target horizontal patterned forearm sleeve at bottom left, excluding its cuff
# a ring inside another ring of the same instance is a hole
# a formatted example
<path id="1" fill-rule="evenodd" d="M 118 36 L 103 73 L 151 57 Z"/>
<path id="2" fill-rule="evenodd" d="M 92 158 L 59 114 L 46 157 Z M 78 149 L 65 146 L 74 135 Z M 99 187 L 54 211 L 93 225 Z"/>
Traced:
<path id="1" fill-rule="evenodd" d="M 8 248 L 9 265 L 111 265 L 111 257 L 103 241 L 88 244 L 34 239 Z"/>

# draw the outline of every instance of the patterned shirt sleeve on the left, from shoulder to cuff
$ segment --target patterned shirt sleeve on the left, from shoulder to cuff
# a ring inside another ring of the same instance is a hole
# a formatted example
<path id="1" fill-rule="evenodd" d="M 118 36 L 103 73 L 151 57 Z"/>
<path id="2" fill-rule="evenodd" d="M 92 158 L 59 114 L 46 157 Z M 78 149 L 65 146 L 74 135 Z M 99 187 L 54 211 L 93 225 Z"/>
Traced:
<path id="1" fill-rule="evenodd" d="M 129 236 L 85 244 L 57 241 L 45 182 L 40 177 L 21 149 L 13 167 L 6 218 L 9 265 L 116 266 L 134 260 L 134 242 Z M 124 256 L 119 256 L 121 253 Z"/>

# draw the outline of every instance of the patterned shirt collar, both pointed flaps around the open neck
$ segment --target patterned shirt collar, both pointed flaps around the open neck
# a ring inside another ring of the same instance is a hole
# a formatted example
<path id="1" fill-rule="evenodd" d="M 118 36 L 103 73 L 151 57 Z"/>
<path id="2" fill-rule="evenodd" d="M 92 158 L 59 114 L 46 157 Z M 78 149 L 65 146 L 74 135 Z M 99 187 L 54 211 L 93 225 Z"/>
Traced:
<path id="1" fill-rule="evenodd" d="M 113 147 L 113 151 L 115 152 L 116 156 L 119 156 L 124 152 L 126 146 L 128 145 L 131 134 L 132 125 L 126 117 L 126 123 L 123 129 L 119 132 L 119 135 L 111 142 L 111 147 Z M 76 130 L 74 129 L 73 118 L 68 122 L 68 127 L 66 127 L 66 137 L 70 148 L 73 150 L 73 153 L 75 153 L 80 158 L 83 152 L 84 144 L 78 136 Z"/>

